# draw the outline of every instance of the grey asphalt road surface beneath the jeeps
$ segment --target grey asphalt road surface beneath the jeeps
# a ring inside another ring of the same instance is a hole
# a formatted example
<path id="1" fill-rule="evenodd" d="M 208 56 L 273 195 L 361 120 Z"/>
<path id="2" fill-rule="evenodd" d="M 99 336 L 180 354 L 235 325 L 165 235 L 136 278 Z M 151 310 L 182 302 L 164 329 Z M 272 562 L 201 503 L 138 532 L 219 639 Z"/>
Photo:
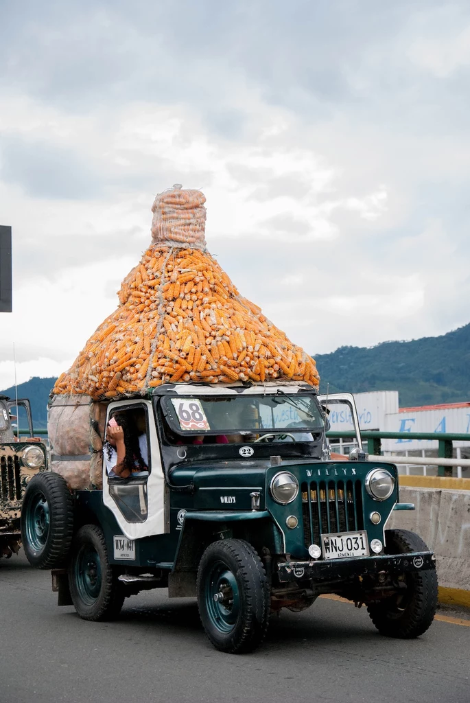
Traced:
<path id="1" fill-rule="evenodd" d="M 0 594 L 0 703 L 470 703 L 470 620 L 392 640 L 364 608 L 320 598 L 237 656 L 209 644 L 195 601 L 167 591 L 90 623 L 57 607 L 49 572 L 20 555 L 1 560 Z"/>

